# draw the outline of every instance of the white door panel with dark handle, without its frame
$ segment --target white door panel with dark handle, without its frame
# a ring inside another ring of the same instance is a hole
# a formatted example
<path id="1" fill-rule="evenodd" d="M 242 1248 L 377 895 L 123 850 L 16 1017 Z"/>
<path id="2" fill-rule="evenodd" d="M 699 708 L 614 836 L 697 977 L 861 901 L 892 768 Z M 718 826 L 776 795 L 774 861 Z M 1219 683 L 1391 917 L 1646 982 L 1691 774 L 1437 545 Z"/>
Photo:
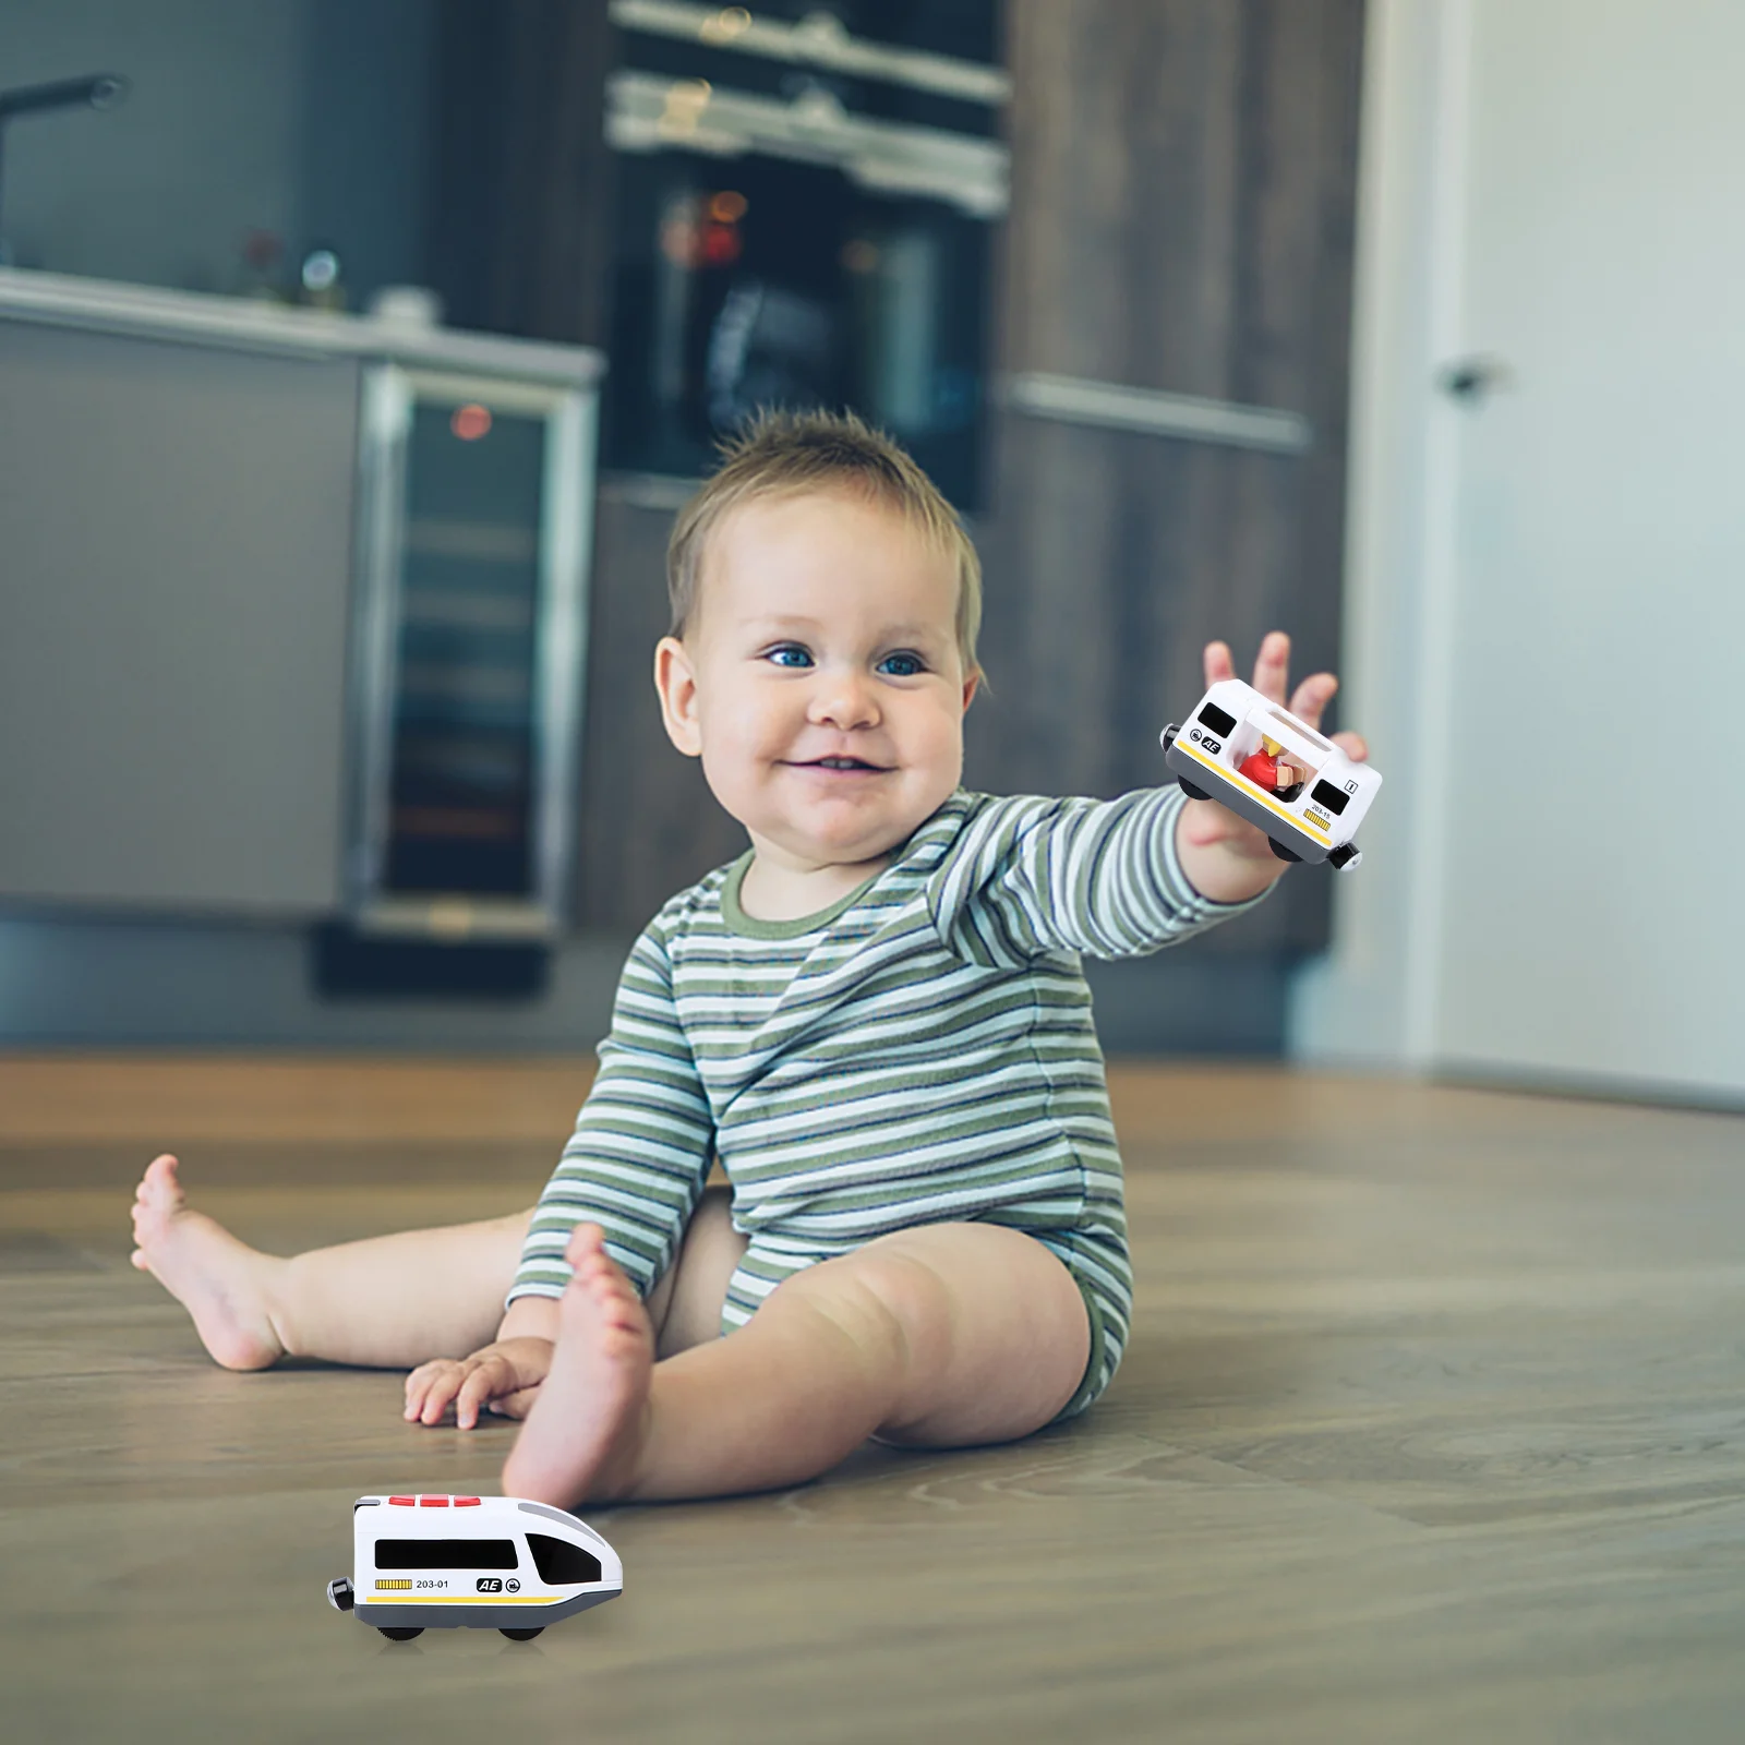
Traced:
<path id="1" fill-rule="evenodd" d="M 1736 1092 L 1745 7 L 1468 16 L 1429 1054 Z"/>

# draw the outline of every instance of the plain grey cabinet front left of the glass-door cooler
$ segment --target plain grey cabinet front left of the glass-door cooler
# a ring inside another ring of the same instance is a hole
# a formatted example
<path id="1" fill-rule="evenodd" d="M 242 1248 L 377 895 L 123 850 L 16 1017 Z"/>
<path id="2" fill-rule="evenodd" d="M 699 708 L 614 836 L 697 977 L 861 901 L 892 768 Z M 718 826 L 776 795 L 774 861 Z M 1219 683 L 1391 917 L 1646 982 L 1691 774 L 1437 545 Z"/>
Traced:
<path id="1" fill-rule="evenodd" d="M 0 319 L 0 897 L 335 913 L 358 380 Z"/>

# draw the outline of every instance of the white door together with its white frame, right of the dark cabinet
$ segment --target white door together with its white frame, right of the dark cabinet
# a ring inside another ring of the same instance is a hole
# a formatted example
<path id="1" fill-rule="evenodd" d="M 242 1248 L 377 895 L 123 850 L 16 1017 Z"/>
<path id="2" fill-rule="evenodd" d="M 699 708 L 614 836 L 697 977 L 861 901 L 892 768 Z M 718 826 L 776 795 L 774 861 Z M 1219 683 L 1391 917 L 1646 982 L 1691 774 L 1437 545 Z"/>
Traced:
<path id="1" fill-rule="evenodd" d="M 1745 1094 L 1740 66 L 1731 0 L 1372 0 L 1345 719 L 1391 789 L 1304 1057 Z"/>

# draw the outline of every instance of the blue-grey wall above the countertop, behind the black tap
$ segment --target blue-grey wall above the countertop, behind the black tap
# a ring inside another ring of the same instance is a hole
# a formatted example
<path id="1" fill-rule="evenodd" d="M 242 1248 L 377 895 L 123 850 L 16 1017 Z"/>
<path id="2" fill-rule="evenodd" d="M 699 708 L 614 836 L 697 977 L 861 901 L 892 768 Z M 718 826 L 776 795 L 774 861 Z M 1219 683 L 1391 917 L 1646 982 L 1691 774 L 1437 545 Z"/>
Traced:
<path id="1" fill-rule="evenodd" d="M 229 291 L 243 239 L 339 248 L 356 295 L 415 277 L 428 0 L 3 0 L 0 87 L 133 80 L 7 127 L 17 265 Z"/>

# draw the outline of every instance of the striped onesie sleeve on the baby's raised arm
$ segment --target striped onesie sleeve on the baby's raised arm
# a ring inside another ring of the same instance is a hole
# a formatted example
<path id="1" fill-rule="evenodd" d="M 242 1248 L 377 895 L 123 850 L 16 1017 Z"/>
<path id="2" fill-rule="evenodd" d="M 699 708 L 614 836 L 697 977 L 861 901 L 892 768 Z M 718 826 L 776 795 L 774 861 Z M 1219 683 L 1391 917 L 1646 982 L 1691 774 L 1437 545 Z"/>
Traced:
<path id="1" fill-rule="evenodd" d="M 1178 787 L 1120 799 L 989 799 L 934 876 L 941 937 L 972 963 L 1047 951 L 1143 956 L 1251 909 L 1202 897 L 1181 871 Z"/>

